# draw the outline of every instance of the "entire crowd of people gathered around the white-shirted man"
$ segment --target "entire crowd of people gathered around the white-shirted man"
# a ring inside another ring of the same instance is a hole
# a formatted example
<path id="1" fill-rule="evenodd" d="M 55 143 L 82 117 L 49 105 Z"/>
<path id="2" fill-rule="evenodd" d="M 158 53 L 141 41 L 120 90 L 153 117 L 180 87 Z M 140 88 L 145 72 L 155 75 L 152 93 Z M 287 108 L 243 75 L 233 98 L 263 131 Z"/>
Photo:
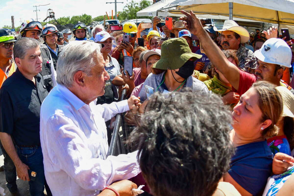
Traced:
<path id="1" fill-rule="evenodd" d="M 16 176 L 32 196 L 131 196 L 141 184 L 154 196 L 293 195 L 292 41 L 274 26 L 254 34 L 182 14 L 172 29 L 153 17 L 148 33 L 133 22 L 59 31 L 28 20 L 18 40 L 0 29 L 12 195 Z M 134 151 L 107 156 L 124 112 Z"/>

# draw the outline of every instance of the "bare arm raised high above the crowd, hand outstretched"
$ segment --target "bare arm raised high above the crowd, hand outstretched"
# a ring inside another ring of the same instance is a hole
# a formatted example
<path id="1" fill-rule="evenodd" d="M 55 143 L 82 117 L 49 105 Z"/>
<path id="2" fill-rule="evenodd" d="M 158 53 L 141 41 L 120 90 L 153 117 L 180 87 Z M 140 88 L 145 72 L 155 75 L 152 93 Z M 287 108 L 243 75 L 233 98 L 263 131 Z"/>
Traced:
<path id="1" fill-rule="evenodd" d="M 239 69 L 225 57 L 223 52 L 218 48 L 218 46 L 212 41 L 208 33 L 203 29 L 201 21 L 196 17 L 196 15 L 190 11 L 181 11 L 187 17 L 181 17 L 183 20 L 185 28 L 187 28 L 191 33 L 197 35 L 201 43 L 201 47 L 206 52 L 211 63 L 218 68 L 218 70 L 225 76 L 225 78 L 230 82 L 230 84 L 238 90 L 240 81 Z"/>

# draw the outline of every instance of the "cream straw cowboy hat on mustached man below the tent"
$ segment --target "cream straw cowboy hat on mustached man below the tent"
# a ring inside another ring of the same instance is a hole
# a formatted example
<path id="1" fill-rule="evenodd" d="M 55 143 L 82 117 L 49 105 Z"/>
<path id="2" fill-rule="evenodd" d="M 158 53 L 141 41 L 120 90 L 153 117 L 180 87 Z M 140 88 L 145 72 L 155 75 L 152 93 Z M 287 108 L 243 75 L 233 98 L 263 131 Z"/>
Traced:
<path id="1" fill-rule="evenodd" d="M 223 29 L 217 30 L 218 32 L 222 31 L 233 31 L 235 33 L 238 33 L 241 37 L 241 43 L 246 43 L 249 40 L 249 33 L 246 29 L 244 29 L 242 26 L 239 26 L 235 21 L 233 20 L 225 20 L 223 24 Z"/>

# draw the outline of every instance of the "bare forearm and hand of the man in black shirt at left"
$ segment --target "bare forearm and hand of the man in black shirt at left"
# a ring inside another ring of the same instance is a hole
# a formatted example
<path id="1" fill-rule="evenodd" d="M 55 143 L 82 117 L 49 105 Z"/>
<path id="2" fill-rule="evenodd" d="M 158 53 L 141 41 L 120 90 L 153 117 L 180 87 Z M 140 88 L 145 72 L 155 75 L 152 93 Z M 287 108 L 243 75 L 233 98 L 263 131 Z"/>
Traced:
<path id="1" fill-rule="evenodd" d="M 11 136 L 8 133 L 0 132 L 0 139 L 4 149 L 16 167 L 17 177 L 19 177 L 21 180 L 29 181 L 29 167 L 22 163 L 19 156 L 17 155 Z"/>

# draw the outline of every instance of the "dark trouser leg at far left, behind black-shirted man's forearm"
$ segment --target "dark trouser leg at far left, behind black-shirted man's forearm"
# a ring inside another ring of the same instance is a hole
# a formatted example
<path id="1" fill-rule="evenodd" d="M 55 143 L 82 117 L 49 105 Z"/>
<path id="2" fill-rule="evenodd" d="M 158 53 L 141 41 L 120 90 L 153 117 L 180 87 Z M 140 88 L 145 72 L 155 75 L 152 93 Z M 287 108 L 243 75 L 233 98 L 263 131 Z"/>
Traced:
<path id="1" fill-rule="evenodd" d="M 6 178 L 6 186 L 10 192 L 16 192 L 17 191 L 17 185 L 16 185 L 16 168 L 9 157 L 9 155 L 6 153 L 2 143 L 0 142 L 0 147 L 4 156 L 4 172 L 5 172 L 5 178 Z"/>

